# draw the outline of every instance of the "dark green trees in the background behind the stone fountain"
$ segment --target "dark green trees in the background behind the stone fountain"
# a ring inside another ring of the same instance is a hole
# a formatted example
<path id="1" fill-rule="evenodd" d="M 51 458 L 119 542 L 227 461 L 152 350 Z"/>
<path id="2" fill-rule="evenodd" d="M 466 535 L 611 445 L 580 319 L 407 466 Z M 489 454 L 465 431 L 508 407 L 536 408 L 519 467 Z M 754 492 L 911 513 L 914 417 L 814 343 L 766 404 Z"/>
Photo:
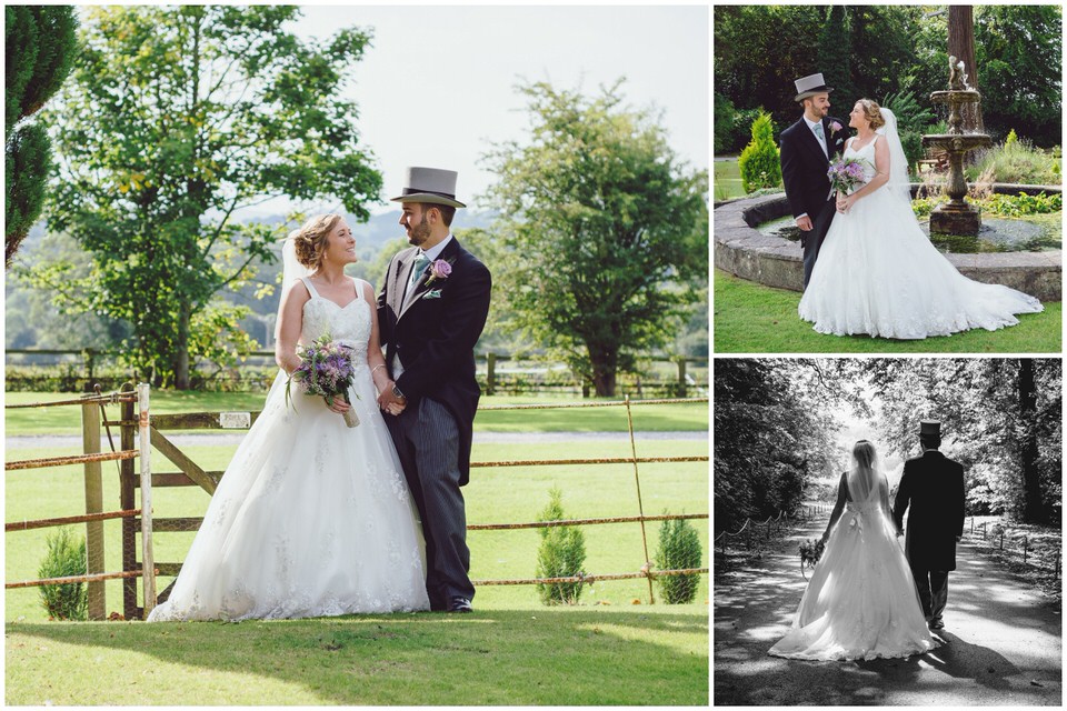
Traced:
<path id="1" fill-rule="evenodd" d="M 944 7 L 739 4 L 718 6 L 714 17 L 717 97 L 738 111 L 770 111 L 782 129 L 800 114 L 792 81 L 814 72 L 845 82 L 830 94 L 830 113 L 839 116 L 861 97 L 910 92 L 929 106 L 930 92 L 947 87 Z M 995 138 L 1014 128 L 1038 146 L 1060 143 L 1061 24 L 1058 4 L 975 6 L 976 58 L 967 72 Z M 831 38 L 834 46 L 824 48 L 819 40 Z"/>

